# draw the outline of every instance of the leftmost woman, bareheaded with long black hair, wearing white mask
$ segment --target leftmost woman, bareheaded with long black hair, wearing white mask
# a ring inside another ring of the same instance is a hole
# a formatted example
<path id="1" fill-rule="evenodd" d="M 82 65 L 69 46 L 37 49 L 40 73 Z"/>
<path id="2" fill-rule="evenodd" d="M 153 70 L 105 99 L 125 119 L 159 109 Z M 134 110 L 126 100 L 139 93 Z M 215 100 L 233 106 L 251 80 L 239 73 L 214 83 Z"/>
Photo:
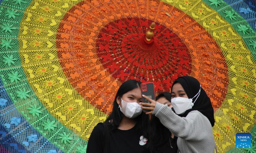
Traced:
<path id="1" fill-rule="evenodd" d="M 142 113 L 140 81 L 125 81 L 118 89 L 105 125 L 94 127 L 87 153 L 142 153 L 147 146 L 148 115 Z M 107 125 L 107 126 L 106 126 Z M 106 128 L 107 127 L 107 128 Z"/>

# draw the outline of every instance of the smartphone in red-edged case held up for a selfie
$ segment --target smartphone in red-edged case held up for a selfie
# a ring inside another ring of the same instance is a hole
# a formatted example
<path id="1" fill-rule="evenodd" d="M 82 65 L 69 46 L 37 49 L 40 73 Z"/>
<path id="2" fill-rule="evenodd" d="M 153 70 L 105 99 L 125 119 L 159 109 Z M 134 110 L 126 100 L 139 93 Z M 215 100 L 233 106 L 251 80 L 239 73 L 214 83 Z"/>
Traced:
<path id="1" fill-rule="evenodd" d="M 145 95 L 148 98 L 156 101 L 155 89 L 154 89 L 153 82 L 140 84 L 140 90 L 141 90 L 142 95 Z M 148 100 L 146 100 L 145 98 L 142 97 L 142 103 L 151 103 L 151 102 L 149 102 Z M 143 112 L 150 112 L 150 110 L 143 109 Z"/>

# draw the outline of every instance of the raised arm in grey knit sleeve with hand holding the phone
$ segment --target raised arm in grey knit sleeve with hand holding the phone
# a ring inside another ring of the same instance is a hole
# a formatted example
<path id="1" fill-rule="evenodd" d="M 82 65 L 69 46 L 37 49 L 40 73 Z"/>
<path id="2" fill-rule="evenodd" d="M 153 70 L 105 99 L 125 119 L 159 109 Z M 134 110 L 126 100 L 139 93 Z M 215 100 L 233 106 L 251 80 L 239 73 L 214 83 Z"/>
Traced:
<path id="1" fill-rule="evenodd" d="M 200 140 L 204 139 L 209 132 L 212 132 L 205 130 L 205 126 L 208 126 L 207 129 L 212 128 L 211 123 L 202 113 L 198 111 L 192 111 L 186 117 L 180 117 L 175 114 L 167 105 L 162 105 L 148 98 L 147 96 L 143 97 L 150 101 L 151 104 L 140 103 L 142 105 L 141 108 L 150 110 L 150 112 L 147 114 L 155 114 L 161 123 L 175 136 L 184 140 Z"/>

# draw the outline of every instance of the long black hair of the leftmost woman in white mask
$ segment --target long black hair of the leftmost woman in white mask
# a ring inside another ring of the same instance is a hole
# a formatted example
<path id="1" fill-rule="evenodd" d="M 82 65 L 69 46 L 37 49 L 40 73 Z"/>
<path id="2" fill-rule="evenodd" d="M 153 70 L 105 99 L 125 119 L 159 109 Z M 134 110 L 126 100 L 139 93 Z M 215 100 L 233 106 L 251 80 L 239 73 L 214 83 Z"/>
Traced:
<path id="1" fill-rule="evenodd" d="M 108 116 L 107 120 L 105 121 L 105 123 L 107 123 L 108 125 L 112 125 L 111 126 L 112 130 L 115 130 L 116 128 L 118 128 L 121 120 L 124 117 L 124 114 L 120 111 L 120 108 L 118 107 L 116 98 L 117 97 L 122 98 L 122 96 L 128 91 L 131 91 L 136 88 L 140 88 L 140 84 L 141 82 L 137 80 L 127 80 L 119 87 L 116 93 L 115 100 L 112 104 L 112 108 L 113 108 L 112 113 Z M 148 115 L 146 115 L 145 113 L 141 113 L 138 117 L 134 118 L 134 120 L 136 121 L 137 127 L 140 129 L 143 136 L 146 137 L 147 135 L 146 129 L 149 123 Z"/>

